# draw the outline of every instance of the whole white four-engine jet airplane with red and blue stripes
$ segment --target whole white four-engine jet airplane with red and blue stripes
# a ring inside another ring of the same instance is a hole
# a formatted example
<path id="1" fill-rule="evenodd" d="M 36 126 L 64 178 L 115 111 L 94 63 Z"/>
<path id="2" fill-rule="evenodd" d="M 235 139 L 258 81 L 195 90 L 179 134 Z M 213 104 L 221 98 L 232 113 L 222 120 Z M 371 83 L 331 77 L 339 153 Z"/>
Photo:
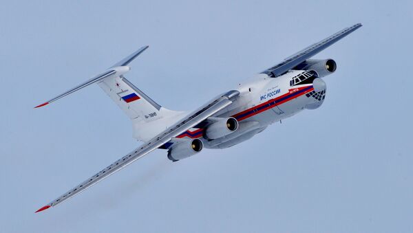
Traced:
<path id="1" fill-rule="evenodd" d="M 96 83 L 130 118 L 133 137 L 142 144 L 36 212 L 67 201 L 156 149 L 167 150 L 167 158 L 178 162 L 200 153 L 204 148 L 228 148 L 240 144 L 264 131 L 270 124 L 304 109 L 319 108 L 326 98 L 323 78 L 334 73 L 337 64 L 330 58 L 310 58 L 361 26 L 357 23 L 346 27 L 302 49 L 190 113 L 162 107 L 125 78 L 124 75 L 131 69 L 129 63 L 148 46 L 141 47 L 81 85 L 39 104 L 34 108 L 43 107 Z"/>

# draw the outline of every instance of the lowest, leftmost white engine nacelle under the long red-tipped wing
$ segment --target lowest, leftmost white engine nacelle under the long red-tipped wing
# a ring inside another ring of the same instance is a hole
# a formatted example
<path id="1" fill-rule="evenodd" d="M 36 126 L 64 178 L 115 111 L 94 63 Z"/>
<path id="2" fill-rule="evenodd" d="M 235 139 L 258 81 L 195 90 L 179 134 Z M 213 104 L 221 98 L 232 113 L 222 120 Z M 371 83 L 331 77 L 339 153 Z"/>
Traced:
<path id="1" fill-rule="evenodd" d="M 184 159 L 186 157 L 190 157 L 202 151 L 204 145 L 202 141 L 199 139 L 194 139 L 192 141 L 181 142 L 176 146 L 173 146 L 168 151 L 168 159 L 176 162 L 180 159 Z"/>

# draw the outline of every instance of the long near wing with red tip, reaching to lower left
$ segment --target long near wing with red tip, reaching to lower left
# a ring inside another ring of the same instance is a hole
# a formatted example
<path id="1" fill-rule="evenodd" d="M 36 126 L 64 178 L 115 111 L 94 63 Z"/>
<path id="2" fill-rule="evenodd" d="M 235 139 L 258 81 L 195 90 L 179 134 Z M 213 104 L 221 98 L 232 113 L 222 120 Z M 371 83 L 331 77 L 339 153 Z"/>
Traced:
<path id="1" fill-rule="evenodd" d="M 239 94 L 240 92 L 238 91 L 229 91 L 219 96 L 218 98 L 215 98 L 215 100 L 208 102 L 204 106 L 200 107 L 200 109 L 193 111 L 193 113 L 187 115 L 186 118 L 183 118 L 182 120 L 178 121 L 176 124 L 169 127 L 162 133 L 156 135 L 156 137 L 153 137 L 153 139 L 149 140 L 149 142 L 143 144 L 139 148 L 136 148 L 136 150 L 125 155 L 124 157 L 116 160 L 116 162 L 110 164 L 103 170 L 100 170 L 100 172 L 96 173 L 95 175 L 93 175 L 92 177 L 84 181 L 82 184 L 79 184 L 78 186 L 72 188 L 71 190 L 66 192 L 64 195 L 61 195 L 61 197 L 54 199 L 54 201 L 48 203 L 46 206 L 43 206 L 36 212 L 46 210 L 47 208 L 56 206 L 62 203 L 63 201 L 70 199 L 70 197 L 74 197 L 74 195 L 77 195 L 80 192 L 83 192 L 90 186 L 93 186 L 99 181 L 105 179 L 106 177 L 109 177 L 109 175 L 112 175 L 116 173 L 118 170 L 131 164 L 132 162 L 135 162 L 136 159 L 140 159 L 141 157 L 147 155 L 151 151 L 156 150 L 156 148 L 169 142 L 169 140 L 171 140 L 173 137 L 176 137 L 180 135 L 181 133 L 184 133 L 185 131 L 187 131 L 188 129 L 191 129 L 196 124 L 199 124 L 200 122 L 206 120 L 211 115 L 214 115 L 221 109 L 224 109 L 225 107 L 229 106 L 229 104 L 231 104 L 233 100 L 237 98 Z"/>

